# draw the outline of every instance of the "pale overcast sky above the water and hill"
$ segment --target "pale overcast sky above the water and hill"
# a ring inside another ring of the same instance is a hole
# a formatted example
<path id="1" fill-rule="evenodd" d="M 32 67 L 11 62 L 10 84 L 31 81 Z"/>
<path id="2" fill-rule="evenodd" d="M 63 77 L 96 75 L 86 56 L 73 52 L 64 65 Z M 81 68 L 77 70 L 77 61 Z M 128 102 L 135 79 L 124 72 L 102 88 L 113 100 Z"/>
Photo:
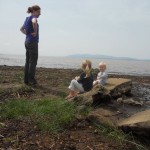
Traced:
<path id="1" fill-rule="evenodd" d="M 40 56 L 150 59 L 150 0 L 0 0 L 0 53 L 25 54 L 20 27 L 35 4 Z"/>

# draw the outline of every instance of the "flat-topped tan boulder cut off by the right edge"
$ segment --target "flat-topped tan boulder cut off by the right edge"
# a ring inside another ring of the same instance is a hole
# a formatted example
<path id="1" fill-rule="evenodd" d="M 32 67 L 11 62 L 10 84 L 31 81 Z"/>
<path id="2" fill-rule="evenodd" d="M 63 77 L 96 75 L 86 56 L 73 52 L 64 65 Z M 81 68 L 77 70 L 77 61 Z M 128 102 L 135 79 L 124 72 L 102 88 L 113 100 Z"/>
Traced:
<path id="1" fill-rule="evenodd" d="M 134 114 L 118 123 L 124 132 L 150 137 L 150 109 Z"/>

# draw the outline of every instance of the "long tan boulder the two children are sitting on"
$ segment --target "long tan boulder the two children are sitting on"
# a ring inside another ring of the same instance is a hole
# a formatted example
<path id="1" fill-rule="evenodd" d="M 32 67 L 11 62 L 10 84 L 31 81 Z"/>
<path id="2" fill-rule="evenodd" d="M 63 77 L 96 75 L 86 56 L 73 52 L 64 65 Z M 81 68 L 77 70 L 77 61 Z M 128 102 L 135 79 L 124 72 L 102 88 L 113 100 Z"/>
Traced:
<path id="1" fill-rule="evenodd" d="M 131 92 L 132 82 L 130 79 L 109 78 L 105 86 L 97 85 L 91 91 L 79 94 L 72 100 L 79 105 L 98 105 L 109 103 L 112 99 L 121 97 Z"/>

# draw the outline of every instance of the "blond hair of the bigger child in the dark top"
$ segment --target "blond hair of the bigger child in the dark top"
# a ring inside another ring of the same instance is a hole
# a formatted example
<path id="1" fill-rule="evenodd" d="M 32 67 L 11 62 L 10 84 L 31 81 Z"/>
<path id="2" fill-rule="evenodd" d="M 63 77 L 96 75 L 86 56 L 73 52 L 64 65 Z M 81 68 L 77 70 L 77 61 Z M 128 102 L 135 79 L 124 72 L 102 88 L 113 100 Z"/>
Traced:
<path id="1" fill-rule="evenodd" d="M 91 67 L 92 67 L 92 63 L 90 60 L 84 60 L 82 62 L 82 69 L 83 71 L 86 73 L 86 77 L 89 77 L 91 74 Z"/>

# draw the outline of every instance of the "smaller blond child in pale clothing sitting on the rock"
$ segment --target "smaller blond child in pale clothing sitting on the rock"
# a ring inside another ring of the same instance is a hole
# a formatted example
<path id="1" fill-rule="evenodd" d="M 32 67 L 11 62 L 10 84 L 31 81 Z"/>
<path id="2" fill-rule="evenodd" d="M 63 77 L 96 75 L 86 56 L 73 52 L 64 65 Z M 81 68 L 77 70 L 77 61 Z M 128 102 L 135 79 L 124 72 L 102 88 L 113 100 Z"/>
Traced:
<path id="1" fill-rule="evenodd" d="M 99 63 L 100 72 L 97 75 L 97 79 L 93 82 L 93 86 L 96 86 L 98 84 L 104 86 L 106 84 L 108 75 L 105 72 L 105 70 L 106 70 L 106 64 L 104 62 Z"/>

